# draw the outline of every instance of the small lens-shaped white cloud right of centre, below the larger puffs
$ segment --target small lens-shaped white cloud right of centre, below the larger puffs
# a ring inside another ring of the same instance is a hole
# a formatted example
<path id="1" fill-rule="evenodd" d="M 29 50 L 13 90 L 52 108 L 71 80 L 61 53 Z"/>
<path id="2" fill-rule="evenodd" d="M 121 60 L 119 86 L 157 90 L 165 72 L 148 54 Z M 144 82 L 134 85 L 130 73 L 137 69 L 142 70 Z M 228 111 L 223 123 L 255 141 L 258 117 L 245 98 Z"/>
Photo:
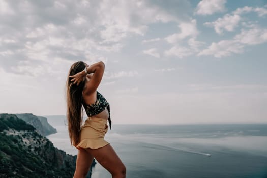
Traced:
<path id="1" fill-rule="evenodd" d="M 175 45 L 172 48 L 170 48 L 169 50 L 166 50 L 164 52 L 164 54 L 166 56 L 176 56 L 179 58 L 187 57 L 189 55 L 192 55 L 193 53 L 194 52 L 191 49 L 186 48 L 186 47 L 181 47 L 179 45 Z"/>

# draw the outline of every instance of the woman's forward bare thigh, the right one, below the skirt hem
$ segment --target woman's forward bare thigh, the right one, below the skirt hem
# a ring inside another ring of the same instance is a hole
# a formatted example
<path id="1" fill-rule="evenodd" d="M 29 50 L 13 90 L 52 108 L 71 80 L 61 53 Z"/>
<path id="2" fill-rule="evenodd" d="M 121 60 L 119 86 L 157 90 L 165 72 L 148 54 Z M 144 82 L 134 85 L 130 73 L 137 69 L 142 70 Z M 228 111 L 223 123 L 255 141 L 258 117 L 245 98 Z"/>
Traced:
<path id="1" fill-rule="evenodd" d="M 96 160 L 111 174 L 126 169 L 123 162 L 110 144 L 99 149 L 86 149 L 86 151 L 93 155 Z"/>

